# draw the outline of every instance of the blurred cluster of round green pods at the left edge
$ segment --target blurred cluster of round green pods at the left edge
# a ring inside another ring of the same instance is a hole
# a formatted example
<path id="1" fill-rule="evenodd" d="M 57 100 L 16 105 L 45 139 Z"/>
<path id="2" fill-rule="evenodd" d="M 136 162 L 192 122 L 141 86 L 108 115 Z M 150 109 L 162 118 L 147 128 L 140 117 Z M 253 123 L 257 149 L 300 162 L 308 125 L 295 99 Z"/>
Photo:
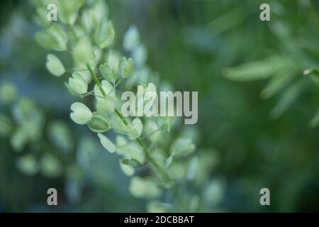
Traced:
<path id="1" fill-rule="evenodd" d="M 32 99 L 18 96 L 11 82 L 0 87 L 0 97 L 5 106 L 11 106 L 12 112 L 0 112 L 0 135 L 9 138 L 11 147 L 17 153 L 16 167 L 26 175 L 38 172 L 45 177 L 58 177 L 63 172 L 63 154 L 57 150 L 70 152 L 73 139 L 69 128 L 63 121 L 52 121 L 45 126 L 45 115 Z M 45 141 L 45 131 L 50 141 Z M 33 150 L 32 153 L 26 151 Z"/>

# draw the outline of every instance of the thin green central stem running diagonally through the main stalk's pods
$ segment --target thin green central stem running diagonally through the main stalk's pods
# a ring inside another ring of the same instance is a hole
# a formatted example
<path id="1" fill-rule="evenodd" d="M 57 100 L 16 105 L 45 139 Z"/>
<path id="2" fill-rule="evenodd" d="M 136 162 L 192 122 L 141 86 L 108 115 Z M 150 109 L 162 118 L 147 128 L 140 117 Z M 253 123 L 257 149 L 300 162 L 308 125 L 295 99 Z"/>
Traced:
<path id="1" fill-rule="evenodd" d="M 94 83 L 96 84 L 97 87 L 99 87 L 99 90 L 101 91 L 101 94 L 103 94 L 104 97 L 106 97 L 106 92 L 104 92 L 103 87 L 101 82 L 99 81 L 99 79 L 96 77 L 95 72 L 92 70 L 91 66 L 89 64 L 86 64 L 87 69 L 89 70 L 92 79 L 94 80 Z M 123 114 L 121 114 L 120 111 L 118 111 L 118 109 L 115 109 L 116 114 L 118 115 L 119 118 L 121 118 L 121 121 L 123 121 L 125 126 L 128 126 L 128 121 L 125 119 L 125 117 L 123 116 Z M 152 157 L 150 150 L 147 148 L 147 146 L 145 145 L 145 143 L 142 142 L 142 140 L 140 140 L 140 138 L 136 138 L 135 139 L 136 142 L 138 142 L 138 144 L 140 145 L 140 147 L 143 149 L 147 160 L 153 165 L 153 167 L 155 167 L 155 169 L 158 170 L 159 175 L 161 175 L 162 179 L 164 180 L 164 182 L 169 182 L 169 176 L 167 175 L 167 173 L 165 172 L 165 170 L 158 165 L 158 163 L 156 162 L 156 160 Z"/>

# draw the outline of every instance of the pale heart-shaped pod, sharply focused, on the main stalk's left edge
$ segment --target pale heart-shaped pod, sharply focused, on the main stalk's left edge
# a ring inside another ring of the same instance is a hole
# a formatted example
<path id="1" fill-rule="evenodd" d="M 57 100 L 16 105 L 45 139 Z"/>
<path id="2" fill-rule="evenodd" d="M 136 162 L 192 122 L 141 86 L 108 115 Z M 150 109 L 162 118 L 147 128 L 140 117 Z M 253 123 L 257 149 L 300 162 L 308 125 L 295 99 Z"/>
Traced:
<path id="1" fill-rule="evenodd" d="M 75 123 L 84 125 L 91 120 L 92 112 L 84 104 L 75 102 L 71 105 L 71 110 L 73 113 L 71 113 L 70 116 Z"/>

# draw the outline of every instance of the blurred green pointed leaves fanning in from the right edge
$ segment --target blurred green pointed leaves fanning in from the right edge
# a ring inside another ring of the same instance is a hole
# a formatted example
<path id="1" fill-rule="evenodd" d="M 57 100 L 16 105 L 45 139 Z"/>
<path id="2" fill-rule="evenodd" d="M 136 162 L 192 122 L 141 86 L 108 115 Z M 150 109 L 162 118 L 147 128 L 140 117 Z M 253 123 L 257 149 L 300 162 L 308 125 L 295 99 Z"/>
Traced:
<path id="1" fill-rule="evenodd" d="M 269 30 L 274 37 L 278 38 L 281 46 L 277 50 L 269 50 L 269 57 L 247 62 L 237 67 L 229 67 L 223 70 L 223 75 L 230 80 L 248 82 L 259 79 L 269 79 L 260 96 L 262 99 L 269 99 L 279 94 L 279 101 L 271 111 L 273 118 L 278 118 L 289 109 L 298 96 L 307 89 L 310 89 L 309 78 L 318 85 L 318 62 L 313 56 L 314 46 L 319 35 L 318 15 L 316 15 L 312 2 L 305 3 L 312 13 L 315 35 L 305 35 L 306 31 L 293 31 L 289 23 L 284 23 L 284 6 L 279 2 L 272 1 L 272 21 L 268 24 Z M 307 31 L 309 32 L 309 31 Z M 295 38 L 296 37 L 296 38 Z M 310 51 L 311 49 L 311 51 Z M 305 70 L 309 69 L 309 70 Z M 309 78 L 303 77 L 306 75 Z M 315 88 L 318 89 L 318 88 Z M 319 110 L 313 116 L 309 125 L 318 126 Z"/>

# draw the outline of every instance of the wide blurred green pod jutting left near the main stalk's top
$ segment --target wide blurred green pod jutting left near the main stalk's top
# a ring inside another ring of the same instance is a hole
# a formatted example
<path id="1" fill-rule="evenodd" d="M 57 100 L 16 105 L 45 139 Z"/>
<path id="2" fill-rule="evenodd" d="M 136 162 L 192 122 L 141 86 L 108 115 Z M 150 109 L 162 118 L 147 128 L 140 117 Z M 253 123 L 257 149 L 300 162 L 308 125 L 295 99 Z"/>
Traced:
<path id="1" fill-rule="evenodd" d="M 63 51 L 67 49 L 67 35 L 58 26 L 51 26 L 35 34 L 35 40 L 46 49 Z"/>

